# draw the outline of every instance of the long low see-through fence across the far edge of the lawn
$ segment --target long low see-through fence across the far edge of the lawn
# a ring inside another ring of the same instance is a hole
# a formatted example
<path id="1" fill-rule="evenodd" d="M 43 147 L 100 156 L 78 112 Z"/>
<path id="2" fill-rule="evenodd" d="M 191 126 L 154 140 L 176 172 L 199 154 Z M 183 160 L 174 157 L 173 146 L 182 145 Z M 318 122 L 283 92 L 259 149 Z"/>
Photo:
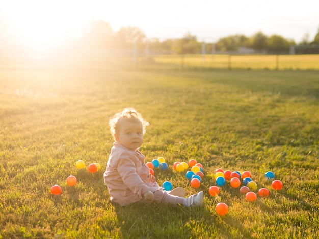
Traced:
<path id="1" fill-rule="evenodd" d="M 317 55 L 1 55 L 0 69 L 319 70 Z"/>

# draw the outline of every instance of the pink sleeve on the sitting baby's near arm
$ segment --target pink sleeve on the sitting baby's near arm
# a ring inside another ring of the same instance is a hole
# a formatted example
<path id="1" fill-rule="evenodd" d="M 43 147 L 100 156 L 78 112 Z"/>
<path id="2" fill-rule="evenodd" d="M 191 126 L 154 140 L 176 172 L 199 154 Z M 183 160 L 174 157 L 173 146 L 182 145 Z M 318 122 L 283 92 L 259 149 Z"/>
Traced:
<path id="1" fill-rule="evenodd" d="M 134 162 L 127 158 L 119 158 L 117 163 L 117 170 L 122 177 L 123 183 L 142 199 L 142 195 L 149 191 L 149 187 L 138 175 Z"/>

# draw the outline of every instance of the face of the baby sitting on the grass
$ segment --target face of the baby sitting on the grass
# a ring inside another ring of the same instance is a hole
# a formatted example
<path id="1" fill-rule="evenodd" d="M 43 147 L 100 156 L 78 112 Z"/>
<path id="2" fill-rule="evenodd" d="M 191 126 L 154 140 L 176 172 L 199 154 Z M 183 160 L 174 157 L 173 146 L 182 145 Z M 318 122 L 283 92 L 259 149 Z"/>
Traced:
<path id="1" fill-rule="evenodd" d="M 136 150 L 143 143 L 142 123 L 122 119 L 119 132 L 118 134 L 115 134 L 115 139 L 129 150 Z"/>

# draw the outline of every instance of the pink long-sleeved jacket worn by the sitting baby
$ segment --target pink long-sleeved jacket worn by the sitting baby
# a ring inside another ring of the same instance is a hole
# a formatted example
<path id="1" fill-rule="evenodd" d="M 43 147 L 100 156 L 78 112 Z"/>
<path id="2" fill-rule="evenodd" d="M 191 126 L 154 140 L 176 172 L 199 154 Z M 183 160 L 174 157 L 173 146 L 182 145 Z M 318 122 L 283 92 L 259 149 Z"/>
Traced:
<path id="1" fill-rule="evenodd" d="M 145 165 L 145 156 L 120 143 L 114 143 L 104 172 L 104 183 L 109 189 L 111 201 L 121 206 L 143 199 L 147 191 L 161 189 L 155 177 Z"/>

